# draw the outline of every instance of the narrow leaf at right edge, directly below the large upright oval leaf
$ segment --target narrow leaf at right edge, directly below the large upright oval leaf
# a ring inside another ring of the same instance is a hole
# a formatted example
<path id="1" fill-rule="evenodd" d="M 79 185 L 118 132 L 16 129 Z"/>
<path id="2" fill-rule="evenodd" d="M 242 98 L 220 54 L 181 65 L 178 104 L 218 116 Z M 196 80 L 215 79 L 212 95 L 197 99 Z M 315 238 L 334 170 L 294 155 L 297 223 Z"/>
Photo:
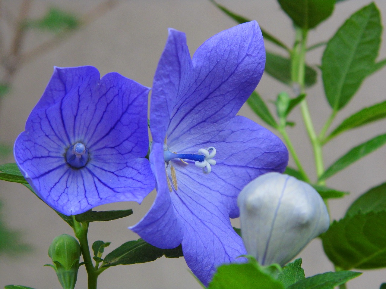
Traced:
<path id="1" fill-rule="evenodd" d="M 377 121 L 386 117 L 386 101 L 374 104 L 368 108 L 364 108 L 357 113 L 354 113 L 349 118 L 346 118 L 337 128 L 330 133 L 326 141 L 334 138 L 338 134 L 348 130 L 363 126 L 365 124 Z"/>

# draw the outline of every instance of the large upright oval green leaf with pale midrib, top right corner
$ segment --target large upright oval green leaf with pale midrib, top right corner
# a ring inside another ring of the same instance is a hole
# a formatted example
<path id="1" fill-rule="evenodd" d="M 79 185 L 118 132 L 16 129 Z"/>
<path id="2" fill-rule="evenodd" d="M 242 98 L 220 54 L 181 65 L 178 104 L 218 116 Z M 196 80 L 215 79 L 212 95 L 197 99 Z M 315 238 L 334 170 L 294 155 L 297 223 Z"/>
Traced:
<path id="1" fill-rule="evenodd" d="M 322 78 L 328 103 L 342 109 L 371 72 L 381 43 L 381 18 L 374 3 L 355 12 L 328 41 Z"/>

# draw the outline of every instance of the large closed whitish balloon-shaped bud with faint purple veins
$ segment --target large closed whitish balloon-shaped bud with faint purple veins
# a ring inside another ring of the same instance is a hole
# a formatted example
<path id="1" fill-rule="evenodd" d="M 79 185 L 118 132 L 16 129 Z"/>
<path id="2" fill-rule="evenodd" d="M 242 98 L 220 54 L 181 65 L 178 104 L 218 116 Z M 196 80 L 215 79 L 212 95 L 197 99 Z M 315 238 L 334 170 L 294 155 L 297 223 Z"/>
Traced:
<path id="1" fill-rule="evenodd" d="M 330 223 L 325 203 L 313 187 L 276 172 L 246 185 L 237 204 L 245 247 L 261 265 L 283 266 Z"/>

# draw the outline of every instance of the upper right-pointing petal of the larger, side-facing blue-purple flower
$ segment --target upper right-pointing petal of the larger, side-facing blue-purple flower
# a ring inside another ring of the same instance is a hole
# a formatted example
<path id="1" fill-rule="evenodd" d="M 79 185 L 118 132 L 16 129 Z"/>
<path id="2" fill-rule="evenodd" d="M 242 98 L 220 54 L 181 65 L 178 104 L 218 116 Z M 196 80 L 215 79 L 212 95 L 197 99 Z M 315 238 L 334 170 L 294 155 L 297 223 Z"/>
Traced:
<path id="1" fill-rule="evenodd" d="M 193 83 L 186 93 L 178 94 L 174 104 L 168 141 L 190 134 L 196 126 L 234 117 L 259 83 L 264 64 L 264 43 L 256 21 L 205 41 L 193 56 Z"/>

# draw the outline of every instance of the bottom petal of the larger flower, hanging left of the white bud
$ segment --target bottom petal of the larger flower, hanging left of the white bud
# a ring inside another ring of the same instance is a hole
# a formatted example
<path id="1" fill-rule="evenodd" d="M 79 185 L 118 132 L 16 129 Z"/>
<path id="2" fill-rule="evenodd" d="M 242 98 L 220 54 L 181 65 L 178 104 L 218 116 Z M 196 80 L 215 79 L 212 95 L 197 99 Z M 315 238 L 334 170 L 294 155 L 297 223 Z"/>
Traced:
<path id="1" fill-rule="evenodd" d="M 186 178 L 194 177 L 186 175 Z M 192 179 L 186 181 L 180 175 L 177 178 L 179 187 L 172 193 L 172 198 L 183 222 L 184 257 L 191 271 L 207 286 L 218 265 L 235 262 L 235 258 L 245 255 L 246 250 L 241 237 L 232 228 L 227 208 L 219 202 L 218 194 L 205 184 L 194 183 Z"/>

